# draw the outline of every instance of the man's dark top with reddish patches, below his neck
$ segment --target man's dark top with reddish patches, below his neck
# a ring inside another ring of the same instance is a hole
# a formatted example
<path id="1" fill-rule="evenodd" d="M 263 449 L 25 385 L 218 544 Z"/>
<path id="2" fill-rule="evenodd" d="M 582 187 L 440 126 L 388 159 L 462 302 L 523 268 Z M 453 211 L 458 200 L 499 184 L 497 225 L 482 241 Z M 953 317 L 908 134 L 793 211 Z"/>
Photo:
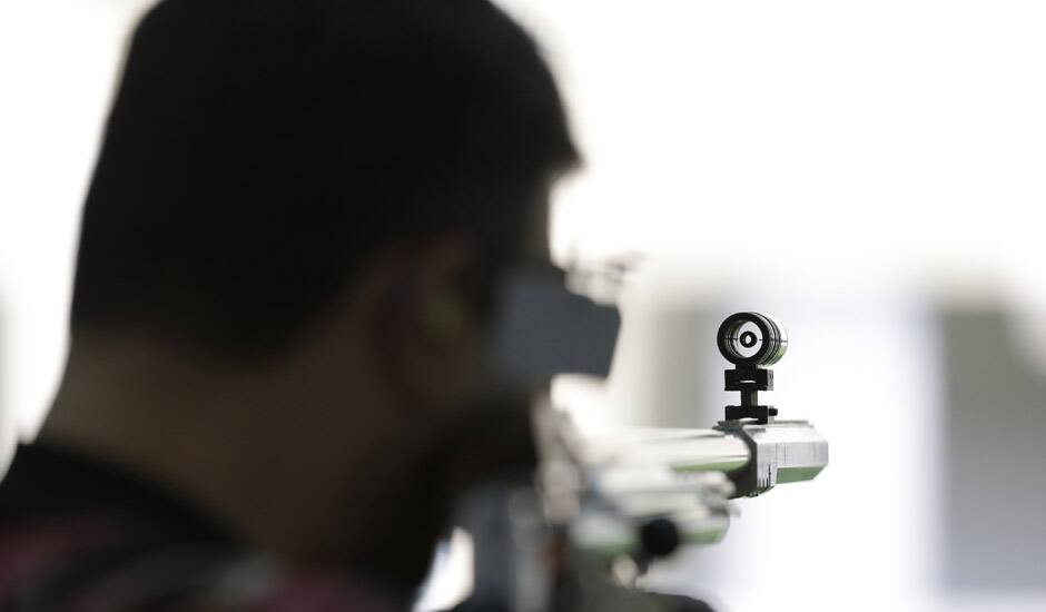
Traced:
<path id="1" fill-rule="evenodd" d="M 118 467 L 21 446 L 0 484 L 0 612 L 409 609 L 335 573 L 292 575 Z"/>

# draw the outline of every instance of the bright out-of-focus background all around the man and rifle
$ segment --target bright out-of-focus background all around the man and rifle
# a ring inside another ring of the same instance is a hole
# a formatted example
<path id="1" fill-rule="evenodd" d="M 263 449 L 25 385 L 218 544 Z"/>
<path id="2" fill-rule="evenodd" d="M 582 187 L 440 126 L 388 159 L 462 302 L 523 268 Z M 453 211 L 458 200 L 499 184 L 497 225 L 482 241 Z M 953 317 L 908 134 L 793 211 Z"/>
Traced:
<path id="1" fill-rule="evenodd" d="M 1046 609 L 1046 7 L 501 3 L 585 152 L 555 257 L 644 261 L 606 388 L 557 396 L 710 426 L 730 399 L 714 330 L 754 309 L 791 339 L 769 397 L 831 444 L 817 481 L 741 501 L 721 545 L 650 583 L 733 611 Z M 146 4 L 0 4 L 4 453 L 53 391 L 78 209 Z"/>

